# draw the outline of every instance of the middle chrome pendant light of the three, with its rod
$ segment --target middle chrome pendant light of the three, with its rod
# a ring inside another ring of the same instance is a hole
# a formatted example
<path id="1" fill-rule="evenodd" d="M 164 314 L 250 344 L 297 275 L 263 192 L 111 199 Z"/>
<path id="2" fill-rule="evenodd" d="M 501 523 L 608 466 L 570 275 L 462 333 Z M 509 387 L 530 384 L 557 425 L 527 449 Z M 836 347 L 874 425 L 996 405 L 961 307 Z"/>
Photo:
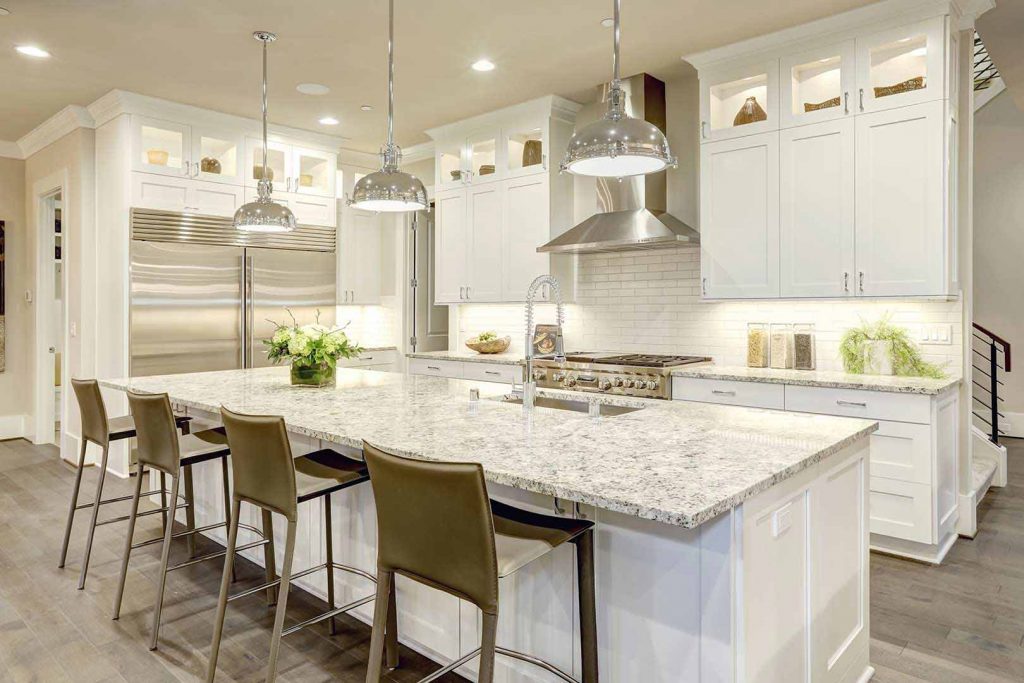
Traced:
<path id="1" fill-rule="evenodd" d="M 368 211 L 419 211 L 427 208 L 427 188 L 415 175 L 398 169 L 401 148 L 394 143 L 394 0 L 388 0 L 387 142 L 381 147 L 381 170 L 359 178 L 348 203 Z"/>

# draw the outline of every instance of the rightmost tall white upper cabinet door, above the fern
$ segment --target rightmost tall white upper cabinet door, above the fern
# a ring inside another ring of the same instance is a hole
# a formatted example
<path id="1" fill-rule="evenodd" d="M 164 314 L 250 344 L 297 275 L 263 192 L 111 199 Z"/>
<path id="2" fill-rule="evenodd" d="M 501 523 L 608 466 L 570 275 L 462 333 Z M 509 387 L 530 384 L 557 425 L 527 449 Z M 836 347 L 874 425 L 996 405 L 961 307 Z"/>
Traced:
<path id="1" fill-rule="evenodd" d="M 943 102 L 857 117 L 857 294 L 942 295 Z"/>

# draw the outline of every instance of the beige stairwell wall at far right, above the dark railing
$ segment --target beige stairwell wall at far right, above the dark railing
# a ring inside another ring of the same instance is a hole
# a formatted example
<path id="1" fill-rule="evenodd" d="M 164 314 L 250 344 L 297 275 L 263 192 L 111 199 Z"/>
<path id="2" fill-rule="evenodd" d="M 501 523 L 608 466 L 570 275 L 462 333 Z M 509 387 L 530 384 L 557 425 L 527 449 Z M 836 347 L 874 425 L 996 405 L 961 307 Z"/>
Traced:
<path id="1" fill-rule="evenodd" d="M 974 319 L 1024 358 L 1024 112 L 1004 91 L 974 125 Z M 1005 409 L 1024 413 L 1024 366 L 1005 381 Z M 1024 434 L 1024 415 L 1015 421 Z"/>

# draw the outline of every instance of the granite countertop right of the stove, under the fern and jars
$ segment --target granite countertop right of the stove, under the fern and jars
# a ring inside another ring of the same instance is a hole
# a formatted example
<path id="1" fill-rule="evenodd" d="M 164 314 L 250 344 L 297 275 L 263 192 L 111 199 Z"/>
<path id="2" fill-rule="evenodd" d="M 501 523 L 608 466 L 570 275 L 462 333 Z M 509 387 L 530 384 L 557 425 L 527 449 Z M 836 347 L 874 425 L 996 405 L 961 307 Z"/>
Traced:
<path id="1" fill-rule="evenodd" d="M 675 377 L 732 380 L 736 382 L 766 382 L 798 386 L 828 387 L 833 389 L 866 389 L 892 393 L 940 394 L 959 384 L 953 376 L 940 380 L 929 377 L 891 377 L 882 375 L 851 375 L 849 373 L 816 370 L 773 370 L 771 368 L 743 368 L 720 366 L 691 366 L 672 371 Z"/>

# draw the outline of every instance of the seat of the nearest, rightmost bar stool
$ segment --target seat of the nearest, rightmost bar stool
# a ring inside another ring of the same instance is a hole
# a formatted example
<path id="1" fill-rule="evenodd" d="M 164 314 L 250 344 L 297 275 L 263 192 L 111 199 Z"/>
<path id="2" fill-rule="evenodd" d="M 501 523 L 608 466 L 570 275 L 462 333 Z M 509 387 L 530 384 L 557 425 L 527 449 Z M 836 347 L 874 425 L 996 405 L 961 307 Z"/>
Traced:
<path id="1" fill-rule="evenodd" d="M 490 501 L 498 577 L 504 579 L 594 525 L 586 519 L 553 517 Z"/>

